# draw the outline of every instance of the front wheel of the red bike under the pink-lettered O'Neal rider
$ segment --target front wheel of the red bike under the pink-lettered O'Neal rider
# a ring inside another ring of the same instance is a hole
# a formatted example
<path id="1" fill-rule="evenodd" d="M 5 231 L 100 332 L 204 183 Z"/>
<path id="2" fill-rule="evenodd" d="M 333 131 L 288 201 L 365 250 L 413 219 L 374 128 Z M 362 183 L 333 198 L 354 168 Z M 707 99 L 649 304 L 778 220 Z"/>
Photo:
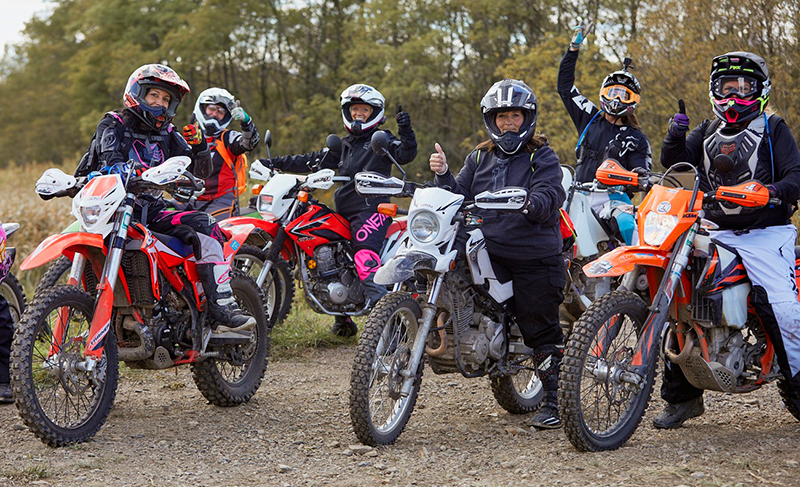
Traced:
<path id="1" fill-rule="evenodd" d="M 266 252 L 255 245 L 245 244 L 233 258 L 233 268 L 257 279 L 266 262 Z M 261 286 L 264 305 L 271 323 L 280 323 L 292 309 L 295 286 L 289 264 L 278 259 L 269 270 L 269 275 Z"/>

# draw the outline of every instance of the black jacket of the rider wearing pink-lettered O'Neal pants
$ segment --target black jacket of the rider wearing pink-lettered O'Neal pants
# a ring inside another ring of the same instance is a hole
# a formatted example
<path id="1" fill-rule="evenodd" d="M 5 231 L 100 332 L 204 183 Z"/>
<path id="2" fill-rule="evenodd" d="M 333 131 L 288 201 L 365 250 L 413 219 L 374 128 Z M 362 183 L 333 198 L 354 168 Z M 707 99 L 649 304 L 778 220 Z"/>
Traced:
<path id="1" fill-rule="evenodd" d="M 389 152 L 399 164 L 408 164 L 417 156 L 417 139 L 414 130 L 400 130 L 398 139 L 388 130 Z M 317 169 L 338 169 L 340 176 L 353 178 L 361 171 L 374 171 L 389 176 L 392 173 L 392 163 L 387 157 L 378 156 L 372 151 L 370 141 L 374 131 L 354 136 L 348 135 L 342 139 L 342 154 L 339 160 L 326 158 L 321 161 L 323 152 L 315 151 L 296 156 L 283 156 L 270 159 L 270 163 L 283 171 L 307 173 Z M 315 167 L 322 162 L 321 167 Z M 379 203 L 388 203 L 389 198 L 362 198 L 356 193 L 354 180 L 344 183 L 336 190 L 334 195 L 336 211 L 345 218 L 352 219 L 364 211 L 375 211 Z"/>

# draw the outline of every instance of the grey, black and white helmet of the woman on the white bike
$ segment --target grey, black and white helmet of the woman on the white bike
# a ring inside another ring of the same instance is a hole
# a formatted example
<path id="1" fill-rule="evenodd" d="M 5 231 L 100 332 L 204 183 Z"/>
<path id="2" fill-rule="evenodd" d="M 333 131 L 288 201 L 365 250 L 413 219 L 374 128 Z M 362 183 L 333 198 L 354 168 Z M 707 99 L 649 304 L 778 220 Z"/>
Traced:
<path id="1" fill-rule="evenodd" d="M 495 117 L 498 112 L 522 110 L 525 119 L 519 132 L 506 132 L 497 127 Z M 506 154 L 516 154 L 533 137 L 536 119 L 539 116 L 536 95 L 530 86 L 516 79 L 506 78 L 493 84 L 481 100 L 483 123 L 489 137 Z"/>

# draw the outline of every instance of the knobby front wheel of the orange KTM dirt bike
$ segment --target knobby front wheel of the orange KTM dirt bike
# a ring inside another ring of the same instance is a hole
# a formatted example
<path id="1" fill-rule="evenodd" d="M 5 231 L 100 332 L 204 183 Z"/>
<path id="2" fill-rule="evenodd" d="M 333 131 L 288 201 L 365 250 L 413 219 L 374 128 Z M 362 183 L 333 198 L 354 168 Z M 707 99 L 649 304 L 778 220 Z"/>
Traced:
<path id="1" fill-rule="evenodd" d="M 656 354 L 638 384 L 631 383 L 631 363 L 647 317 L 639 296 L 617 290 L 592 303 L 575 323 L 561 364 L 559 406 L 567 438 L 578 450 L 617 449 L 639 426 L 653 389 Z"/>

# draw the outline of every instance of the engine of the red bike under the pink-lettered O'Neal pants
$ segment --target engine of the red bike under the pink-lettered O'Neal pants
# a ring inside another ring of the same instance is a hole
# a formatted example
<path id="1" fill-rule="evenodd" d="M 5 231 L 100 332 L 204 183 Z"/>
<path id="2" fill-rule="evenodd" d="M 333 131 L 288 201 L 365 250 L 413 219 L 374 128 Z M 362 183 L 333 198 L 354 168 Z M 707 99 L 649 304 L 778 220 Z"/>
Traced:
<path id="1" fill-rule="evenodd" d="M 343 244 L 317 247 L 313 260 L 315 265 L 309 269 L 308 291 L 325 308 L 355 311 L 364 304 L 364 292 L 356 275 L 355 263 Z"/>

